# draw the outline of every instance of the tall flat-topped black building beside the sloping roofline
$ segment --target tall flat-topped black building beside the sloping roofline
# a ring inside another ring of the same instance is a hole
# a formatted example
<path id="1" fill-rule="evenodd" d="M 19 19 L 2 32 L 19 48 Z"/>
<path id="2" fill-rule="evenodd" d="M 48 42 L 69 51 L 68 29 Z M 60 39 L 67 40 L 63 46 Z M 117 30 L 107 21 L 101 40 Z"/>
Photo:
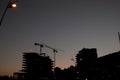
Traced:
<path id="1" fill-rule="evenodd" d="M 94 68 L 97 60 L 97 49 L 83 48 L 76 55 L 76 77 L 79 80 L 87 80 L 89 77 L 90 69 Z"/>

